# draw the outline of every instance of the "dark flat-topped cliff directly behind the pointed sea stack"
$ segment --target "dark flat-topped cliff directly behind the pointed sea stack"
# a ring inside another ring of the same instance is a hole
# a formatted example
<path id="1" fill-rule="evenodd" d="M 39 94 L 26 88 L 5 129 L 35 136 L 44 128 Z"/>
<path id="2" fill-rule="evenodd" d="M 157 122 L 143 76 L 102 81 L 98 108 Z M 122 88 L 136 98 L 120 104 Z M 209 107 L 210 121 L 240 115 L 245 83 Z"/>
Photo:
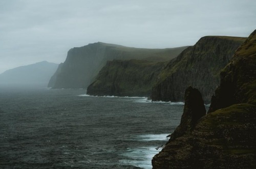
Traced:
<path id="1" fill-rule="evenodd" d="M 219 85 L 219 73 L 246 38 L 207 36 L 185 49 L 160 73 L 152 100 L 183 101 L 188 86 L 199 89 L 206 103 Z"/>

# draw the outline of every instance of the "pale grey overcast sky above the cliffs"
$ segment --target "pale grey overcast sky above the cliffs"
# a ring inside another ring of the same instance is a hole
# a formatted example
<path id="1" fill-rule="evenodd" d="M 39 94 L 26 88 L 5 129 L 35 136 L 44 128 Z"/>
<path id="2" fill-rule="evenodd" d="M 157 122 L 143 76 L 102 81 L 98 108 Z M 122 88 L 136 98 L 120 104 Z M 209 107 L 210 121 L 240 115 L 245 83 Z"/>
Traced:
<path id="1" fill-rule="evenodd" d="M 209 35 L 248 37 L 255 0 L 0 0 L 0 73 L 65 62 L 73 47 L 194 45 Z"/>

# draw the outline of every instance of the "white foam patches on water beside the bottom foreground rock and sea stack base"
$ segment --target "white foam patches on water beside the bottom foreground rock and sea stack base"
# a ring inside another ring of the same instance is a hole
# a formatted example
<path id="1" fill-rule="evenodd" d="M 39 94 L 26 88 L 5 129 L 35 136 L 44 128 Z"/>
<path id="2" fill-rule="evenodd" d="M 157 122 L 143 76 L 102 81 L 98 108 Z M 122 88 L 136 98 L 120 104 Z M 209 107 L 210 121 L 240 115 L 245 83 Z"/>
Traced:
<path id="1" fill-rule="evenodd" d="M 133 139 L 134 141 L 150 142 L 150 141 L 161 141 L 164 143 L 168 140 L 168 134 L 144 134 L 138 135 Z M 159 145 L 148 146 L 148 147 L 136 147 L 127 148 L 125 153 L 122 153 L 127 159 L 119 160 L 120 165 L 133 165 L 142 168 L 152 168 L 152 158 L 161 151 L 162 148 L 157 149 Z"/>

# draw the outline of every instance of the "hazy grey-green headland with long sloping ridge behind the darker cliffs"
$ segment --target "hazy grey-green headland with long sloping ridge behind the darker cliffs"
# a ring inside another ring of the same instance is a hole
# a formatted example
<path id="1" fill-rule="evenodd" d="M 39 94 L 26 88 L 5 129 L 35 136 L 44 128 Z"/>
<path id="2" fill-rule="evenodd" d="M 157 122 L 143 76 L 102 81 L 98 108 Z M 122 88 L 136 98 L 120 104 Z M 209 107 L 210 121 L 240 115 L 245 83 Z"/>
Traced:
<path id="1" fill-rule="evenodd" d="M 141 49 L 102 42 L 69 50 L 66 61 L 59 67 L 49 87 L 87 88 L 107 61 L 114 59 L 146 59 L 167 61 L 186 47 L 168 49 Z"/>

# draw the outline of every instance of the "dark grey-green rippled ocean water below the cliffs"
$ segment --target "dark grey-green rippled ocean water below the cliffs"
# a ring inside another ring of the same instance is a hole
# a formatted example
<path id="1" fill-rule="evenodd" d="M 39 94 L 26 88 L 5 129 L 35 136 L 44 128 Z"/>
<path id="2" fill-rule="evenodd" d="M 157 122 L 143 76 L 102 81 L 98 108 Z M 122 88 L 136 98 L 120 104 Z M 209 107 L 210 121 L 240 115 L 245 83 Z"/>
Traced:
<path id="1" fill-rule="evenodd" d="M 0 168 L 152 168 L 183 104 L 0 87 Z"/>

